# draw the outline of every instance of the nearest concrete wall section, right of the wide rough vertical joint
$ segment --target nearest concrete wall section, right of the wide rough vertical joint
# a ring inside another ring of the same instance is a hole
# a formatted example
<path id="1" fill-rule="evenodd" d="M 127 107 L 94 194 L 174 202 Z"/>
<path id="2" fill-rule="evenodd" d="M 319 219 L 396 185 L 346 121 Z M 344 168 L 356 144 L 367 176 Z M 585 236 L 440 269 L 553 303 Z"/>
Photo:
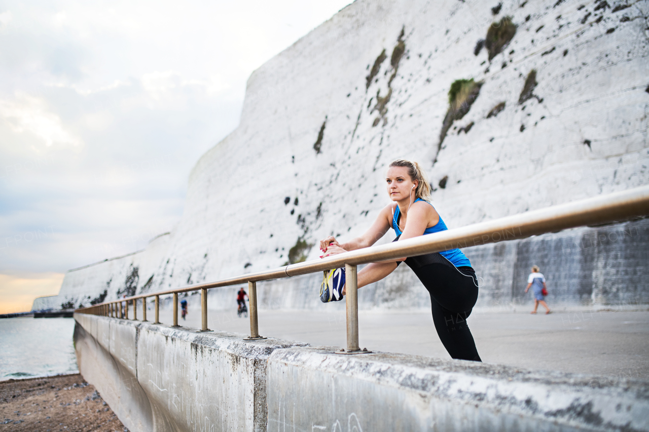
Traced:
<path id="1" fill-rule="evenodd" d="M 400 354 L 268 359 L 268 431 L 648 431 L 649 382 Z"/>

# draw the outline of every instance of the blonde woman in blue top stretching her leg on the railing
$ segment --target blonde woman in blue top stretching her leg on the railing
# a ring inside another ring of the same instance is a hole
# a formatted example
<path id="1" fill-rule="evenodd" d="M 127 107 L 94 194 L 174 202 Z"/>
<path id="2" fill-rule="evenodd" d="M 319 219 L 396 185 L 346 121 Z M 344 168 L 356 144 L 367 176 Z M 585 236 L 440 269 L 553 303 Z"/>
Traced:
<path id="1" fill-rule="evenodd" d="M 376 221 L 360 237 L 338 243 L 334 237 L 320 241 L 321 258 L 348 250 L 366 248 L 393 228 L 395 241 L 447 230 L 447 226 L 428 202 L 430 185 L 417 162 L 395 160 L 386 173 L 387 195 L 393 201 L 379 213 Z M 396 262 L 395 262 L 396 261 Z M 398 258 L 371 263 L 358 272 L 358 287 L 385 278 L 401 261 L 415 272 L 430 293 L 433 322 L 439 339 L 454 359 L 481 361 L 467 318 L 478 299 L 476 272 L 469 259 L 459 250 Z M 323 302 L 336 302 L 345 295 L 345 269 L 324 272 L 320 288 Z"/>

